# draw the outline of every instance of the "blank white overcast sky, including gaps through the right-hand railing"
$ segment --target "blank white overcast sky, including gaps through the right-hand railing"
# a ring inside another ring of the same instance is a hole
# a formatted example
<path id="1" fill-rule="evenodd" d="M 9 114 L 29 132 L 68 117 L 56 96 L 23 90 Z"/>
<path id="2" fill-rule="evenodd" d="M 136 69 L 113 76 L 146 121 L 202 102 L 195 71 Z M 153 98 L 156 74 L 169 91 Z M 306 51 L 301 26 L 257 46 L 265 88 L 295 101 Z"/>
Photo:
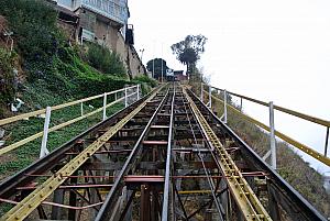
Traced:
<path id="1" fill-rule="evenodd" d="M 330 119 L 329 0 L 130 0 L 129 7 L 144 64 L 163 57 L 170 68 L 185 69 L 170 45 L 202 34 L 208 42 L 198 66 L 211 85 Z M 244 104 L 267 123 L 267 109 Z M 275 124 L 323 153 L 324 128 L 277 112 Z"/>

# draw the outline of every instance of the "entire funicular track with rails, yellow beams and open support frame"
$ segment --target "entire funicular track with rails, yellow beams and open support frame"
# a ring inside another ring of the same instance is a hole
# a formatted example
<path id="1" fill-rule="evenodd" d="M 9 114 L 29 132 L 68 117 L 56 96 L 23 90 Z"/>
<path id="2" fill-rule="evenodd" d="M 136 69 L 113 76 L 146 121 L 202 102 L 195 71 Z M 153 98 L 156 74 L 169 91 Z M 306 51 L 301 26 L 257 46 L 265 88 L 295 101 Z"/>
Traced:
<path id="1" fill-rule="evenodd" d="M 1 220 L 326 220 L 168 84 L 0 184 Z"/>

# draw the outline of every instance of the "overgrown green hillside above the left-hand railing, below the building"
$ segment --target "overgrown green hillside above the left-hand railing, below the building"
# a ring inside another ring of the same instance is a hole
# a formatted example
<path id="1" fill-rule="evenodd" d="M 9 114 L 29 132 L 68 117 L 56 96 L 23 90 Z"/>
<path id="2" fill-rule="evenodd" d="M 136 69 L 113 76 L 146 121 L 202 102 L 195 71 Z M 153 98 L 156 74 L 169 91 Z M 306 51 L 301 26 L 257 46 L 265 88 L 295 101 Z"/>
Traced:
<path id="1" fill-rule="evenodd" d="M 116 90 L 128 84 L 155 85 L 146 76 L 130 80 L 122 60 L 102 46 L 68 42 L 57 26 L 57 12 L 44 1 L 2 0 L 0 15 L 7 20 L 7 30 L 13 33 L 14 41 L 11 53 L 4 48 L 7 38 L 0 30 L 0 80 L 6 82 L 6 87 L 0 88 L 2 110 L 8 109 L 7 104 L 14 98 L 35 102 L 30 103 L 31 109 L 45 104 L 33 100 L 29 95 L 31 88 L 65 101 Z M 12 69 L 16 69 L 16 74 Z M 4 112 L 0 111 L 0 118 Z"/>

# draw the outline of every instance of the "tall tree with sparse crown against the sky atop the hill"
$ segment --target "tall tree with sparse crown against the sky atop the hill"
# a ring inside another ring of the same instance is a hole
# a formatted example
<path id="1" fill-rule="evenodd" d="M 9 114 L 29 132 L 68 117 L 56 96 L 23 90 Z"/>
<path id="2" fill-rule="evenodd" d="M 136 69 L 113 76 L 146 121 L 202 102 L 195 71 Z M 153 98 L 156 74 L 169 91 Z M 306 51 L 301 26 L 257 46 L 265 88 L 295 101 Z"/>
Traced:
<path id="1" fill-rule="evenodd" d="M 187 35 L 182 42 L 170 46 L 176 58 L 187 66 L 187 75 L 193 74 L 196 62 L 200 58 L 200 54 L 205 52 L 205 43 L 207 37 L 204 35 Z"/>

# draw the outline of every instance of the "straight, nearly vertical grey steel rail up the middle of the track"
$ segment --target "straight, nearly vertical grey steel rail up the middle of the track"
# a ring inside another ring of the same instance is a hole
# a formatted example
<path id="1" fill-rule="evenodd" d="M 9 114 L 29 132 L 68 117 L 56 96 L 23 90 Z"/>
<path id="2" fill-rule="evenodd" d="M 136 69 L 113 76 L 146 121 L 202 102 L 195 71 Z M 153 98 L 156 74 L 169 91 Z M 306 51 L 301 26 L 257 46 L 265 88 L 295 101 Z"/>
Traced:
<path id="1" fill-rule="evenodd" d="M 174 106 L 175 106 L 175 86 L 173 85 L 173 97 L 170 102 L 170 117 L 168 126 L 168 139 L 167 139 L 167 151 L 166 151 L 166 165 L 165 165 L 165 183 L 164 183 L 164 195 L 163 195 L 163 210 L 162 221 L 168 220 L 168 197 L 169 197 L 169 178 L 170 178 L 170 158 L 172 158 L 172 145 L 173 145 L 173 121 L 174 121 Z"/>

